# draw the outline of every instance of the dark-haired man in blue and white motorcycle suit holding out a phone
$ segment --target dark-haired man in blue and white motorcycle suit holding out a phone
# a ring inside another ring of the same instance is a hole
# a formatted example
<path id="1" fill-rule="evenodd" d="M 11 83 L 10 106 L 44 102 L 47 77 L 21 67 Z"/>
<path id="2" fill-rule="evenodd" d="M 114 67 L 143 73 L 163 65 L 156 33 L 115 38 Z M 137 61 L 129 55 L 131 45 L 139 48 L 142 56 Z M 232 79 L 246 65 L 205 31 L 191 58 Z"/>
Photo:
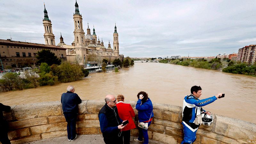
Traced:
<path id="1" fill-rule="evenodd" d="M 205 111 L 202 106 L 208 105 L 222 96 L 222 93 L 218 93 L 216 96 L 199 100 L 202 95 L 202 88 L 196 85 L 191 87 L 190 92 L 191 94 L 185 96 L 183 100 L 182 125 L 184 139 L 181 144 L 192 144 L 196 140 L 196 131 L 199 125 L 203 123 L 201 114 L 211 114 L 211 112 Z M 213 118 L 209 118 L 212 119 L 212 123 Z"/>

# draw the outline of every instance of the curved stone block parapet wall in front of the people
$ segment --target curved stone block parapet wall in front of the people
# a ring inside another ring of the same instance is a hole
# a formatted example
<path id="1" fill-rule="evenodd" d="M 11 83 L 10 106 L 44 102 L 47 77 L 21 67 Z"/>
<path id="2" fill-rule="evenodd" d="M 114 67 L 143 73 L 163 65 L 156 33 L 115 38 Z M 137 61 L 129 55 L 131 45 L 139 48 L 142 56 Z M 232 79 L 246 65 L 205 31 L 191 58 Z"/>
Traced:
<path id="1" fill-rule="evenodd" d="M 134 101 L 125 101 L 134 108 Z M 98 112 L 105 104 L 104 100 L 83 100 L 79 104 L 76 131 L 81 134 L 101 134 Z M 180 143 L 183 138 L 181 124 L 182 108 L 167 104 L 153 103 L 154 118 L 149 126 L 151 140 L 164 143 Z M 138 112 L 134 110 L 136 114 Z M 62 115 L 59 101 L 35 104 L 23 104 L 11 107 L 4 113 L 9 122 L 8 137 L 14 144 L 66 136 L 66 121 Z M 135 124 L 137 125 L 137 115 Z M 138 130 L 131 130 L 132 136 L 138 136 Z M 214 123 L 206 127 L 201 125 L 197 131 L 196 144 L 217 143 L 255 143 L 256 124 L 242 120 L 214 115 Z"/>

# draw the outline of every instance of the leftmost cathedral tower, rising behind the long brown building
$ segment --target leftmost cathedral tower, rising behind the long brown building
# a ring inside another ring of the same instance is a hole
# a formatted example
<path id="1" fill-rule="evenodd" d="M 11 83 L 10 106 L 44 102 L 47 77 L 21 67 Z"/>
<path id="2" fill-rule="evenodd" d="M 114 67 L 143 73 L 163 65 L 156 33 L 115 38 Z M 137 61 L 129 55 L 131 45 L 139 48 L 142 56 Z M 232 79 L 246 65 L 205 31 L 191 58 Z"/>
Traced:
<path id="1" fill-rule="evenodd" d="M 48 17 L 48 13 L 45 9 L 45 4 L 44 4 L 44 19 L 43 19 L 43 24 L 44 24 L 44 40 L 45 44 L 49 45 L 55 45 L 55 36 L 52 33 L 52 22 Z"/>

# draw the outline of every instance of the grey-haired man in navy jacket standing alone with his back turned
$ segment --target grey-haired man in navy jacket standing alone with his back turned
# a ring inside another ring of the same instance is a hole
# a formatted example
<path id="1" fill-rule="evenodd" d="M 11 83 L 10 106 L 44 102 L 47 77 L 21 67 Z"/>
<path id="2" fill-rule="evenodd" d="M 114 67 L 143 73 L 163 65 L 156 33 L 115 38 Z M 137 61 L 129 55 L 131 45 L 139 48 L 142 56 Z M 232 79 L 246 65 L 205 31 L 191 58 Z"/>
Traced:
<path id="1" fill-rule="evenodd" d="M 74 86 L 69 85 L 67 88 L 67 92 L 62 93 L 61 95 L 62 110 L 68 123 L 68 141 L 74 141 L 77 138 L 76 116 L 78 115 L 78 104 L 82 102 L 80 97 L 74 92 Z"/>

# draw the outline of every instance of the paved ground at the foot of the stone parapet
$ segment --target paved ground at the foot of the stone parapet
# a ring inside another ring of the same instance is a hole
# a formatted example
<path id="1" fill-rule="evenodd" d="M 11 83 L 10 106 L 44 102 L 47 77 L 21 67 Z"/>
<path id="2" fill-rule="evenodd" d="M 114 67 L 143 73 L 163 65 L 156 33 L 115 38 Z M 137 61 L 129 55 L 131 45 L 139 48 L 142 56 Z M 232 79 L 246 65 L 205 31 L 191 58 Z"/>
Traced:
<path id="1" fill-rule="evenodd" d="M 133 141 L 135 137 L 131 136 L 130 144 L 141 144 Z M 149 140 L 149 144 L 164 144 L 159 141 Z M 26 144 L 104 144 L 102 135 L 78 135 L 76 140 L 68 141 L 67 137 L 58 137 L 45 140 L 28 142 Z"/>

